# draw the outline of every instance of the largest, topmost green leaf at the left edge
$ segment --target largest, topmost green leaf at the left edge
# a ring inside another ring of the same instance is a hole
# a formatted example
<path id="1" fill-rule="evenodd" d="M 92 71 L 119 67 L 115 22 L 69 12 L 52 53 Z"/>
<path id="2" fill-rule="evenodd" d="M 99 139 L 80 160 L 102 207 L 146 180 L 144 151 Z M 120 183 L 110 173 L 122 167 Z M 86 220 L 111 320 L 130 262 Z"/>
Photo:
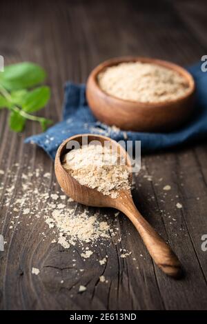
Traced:
<path id="1" fill-rule="evenodd" d="M 32 88 L 46 79 L 46 72 L 30 62 L 7 65 L 0 73 L 0 83 L 7 90 Z"/>

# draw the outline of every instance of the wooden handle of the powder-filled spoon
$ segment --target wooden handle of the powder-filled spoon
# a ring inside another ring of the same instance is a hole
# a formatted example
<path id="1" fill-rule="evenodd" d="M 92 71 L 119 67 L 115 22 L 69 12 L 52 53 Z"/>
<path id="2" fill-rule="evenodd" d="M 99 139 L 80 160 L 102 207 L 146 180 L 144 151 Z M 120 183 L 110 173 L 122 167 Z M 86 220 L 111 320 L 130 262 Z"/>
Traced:
<path id="1" fill-rule="evenodd" d="M 179 278 L 181 276 L 181 264 L 174 252 L 164 239 L 155 232 L 152 226 L 141 216 L 131 199 L 123 201 L 119 210 L 124 212 L 137 228 L 141 239 L 144 241 L 150 256 L 158 267 L 168 276 Z"/>

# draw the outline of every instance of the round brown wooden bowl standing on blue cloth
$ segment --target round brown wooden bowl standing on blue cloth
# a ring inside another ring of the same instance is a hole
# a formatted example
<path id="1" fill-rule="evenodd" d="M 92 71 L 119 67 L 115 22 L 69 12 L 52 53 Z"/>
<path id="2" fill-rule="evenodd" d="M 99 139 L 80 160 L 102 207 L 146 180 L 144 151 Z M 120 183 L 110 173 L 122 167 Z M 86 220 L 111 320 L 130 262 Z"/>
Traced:
<path id="1" fill-rule="evenodd" d="M 171 101 L 142 103 L 118 99 L 101 90 L 97 81 L 100 72 L 109 66 L 131 61 L 154 63 L 177 71 L 188 82 L 188 92 Z M 92 70 L 86 85 L 89 107 L 99 121 L 116 125 L 121 130 L 140 132 L 170 131 L 178 128 L 192 112 L 194 93 L 195 82 L 187 70 L 174 63 L 146 57 L 119 57 L 105 61 Z"/>

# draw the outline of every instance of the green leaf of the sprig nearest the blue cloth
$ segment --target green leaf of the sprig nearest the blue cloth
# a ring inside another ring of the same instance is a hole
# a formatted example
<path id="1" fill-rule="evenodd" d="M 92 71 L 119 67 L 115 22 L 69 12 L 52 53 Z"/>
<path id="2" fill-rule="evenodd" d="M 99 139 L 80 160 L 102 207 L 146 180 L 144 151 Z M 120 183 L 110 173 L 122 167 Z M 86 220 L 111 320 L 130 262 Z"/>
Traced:
<path id="1" fill-rule="evenodd" d="M 30 113 L 37 112 L 43 108 L 50 99 L 50 88 L 39 87 L 30 92 L 28 92 L 21 103 L 21 108 Z"/>

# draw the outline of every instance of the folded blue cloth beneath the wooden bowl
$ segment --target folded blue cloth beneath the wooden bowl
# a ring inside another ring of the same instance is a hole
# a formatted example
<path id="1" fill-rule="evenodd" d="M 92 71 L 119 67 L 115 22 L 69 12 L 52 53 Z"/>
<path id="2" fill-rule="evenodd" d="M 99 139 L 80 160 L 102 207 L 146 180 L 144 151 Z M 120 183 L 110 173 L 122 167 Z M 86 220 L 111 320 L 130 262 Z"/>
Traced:
<path id="1" fill-rule="evenodd" d="M 141 152 L 163 150 L 181 143 L 201 140 L 207 137 L 207 72 L 201 71 L 201 63 L 191 66 L 188 71 L 196 83 L 195 109 L 192 118 L 173 132 L 131 132 L 122 131 L 97 121 L 88 108 L 85 85 L 68 82 L 65 86 L 63 121 L 48 128 L 42 134 L 33 135 L 26 143 L 36 143 L 55 159 L 61 142 L 75 134 L 93 133 L 109 136 L 116 141 L 141 141 Z"/>

